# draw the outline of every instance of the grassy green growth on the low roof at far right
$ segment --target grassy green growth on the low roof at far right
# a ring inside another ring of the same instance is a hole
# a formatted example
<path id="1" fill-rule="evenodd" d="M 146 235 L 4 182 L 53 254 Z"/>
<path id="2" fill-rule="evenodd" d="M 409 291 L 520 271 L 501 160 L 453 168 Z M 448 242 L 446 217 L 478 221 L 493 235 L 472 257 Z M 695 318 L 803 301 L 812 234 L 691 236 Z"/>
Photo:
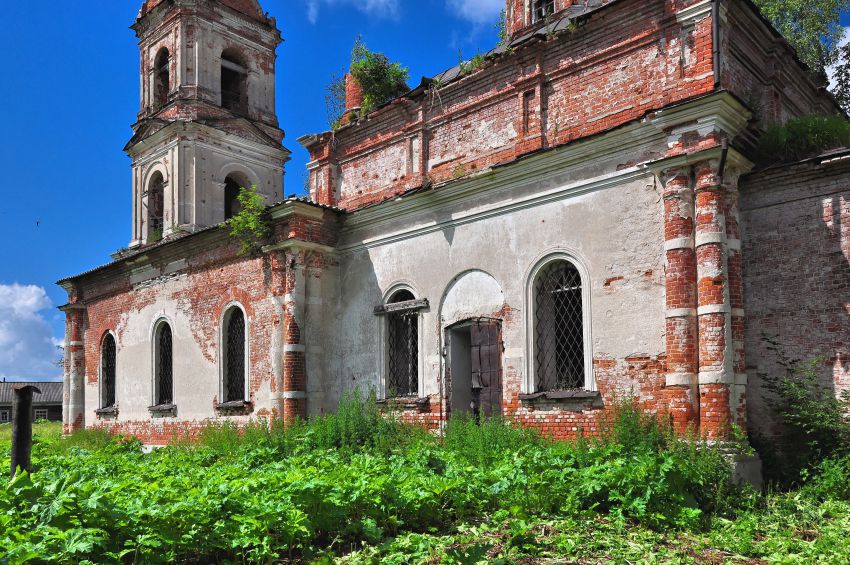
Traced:
<path id="1" fill-rule="evenodd" d="M 759 140 L 762 163 L 793 162 L 850 144 L 850 122 L 841 116 L 805 116 L 767 128 Z"/>

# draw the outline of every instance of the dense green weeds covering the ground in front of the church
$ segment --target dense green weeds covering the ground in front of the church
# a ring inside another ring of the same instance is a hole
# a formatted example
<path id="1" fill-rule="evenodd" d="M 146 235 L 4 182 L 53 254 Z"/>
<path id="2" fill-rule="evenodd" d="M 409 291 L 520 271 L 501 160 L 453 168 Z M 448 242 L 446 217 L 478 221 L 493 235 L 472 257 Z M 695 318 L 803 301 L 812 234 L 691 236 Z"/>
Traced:
<path id="1" fill-rule="evenodd" d="M 846 562 L 847 463 L 827 461 L 761 496 L 629 405 L 575 443 L 462 419 L 441 440 L 355 395 L 309 424 L 212 427 L 150 454 L 43 439 L 34 473 L 0 488 L 0 561 Z"/>

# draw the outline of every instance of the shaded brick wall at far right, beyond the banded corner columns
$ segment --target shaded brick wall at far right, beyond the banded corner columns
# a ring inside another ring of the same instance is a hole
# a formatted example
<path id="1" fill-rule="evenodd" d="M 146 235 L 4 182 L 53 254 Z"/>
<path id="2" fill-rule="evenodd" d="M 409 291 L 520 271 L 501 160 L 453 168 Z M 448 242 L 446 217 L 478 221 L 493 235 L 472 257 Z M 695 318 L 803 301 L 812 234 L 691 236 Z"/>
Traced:
<path id="1" fill-rule="evenodd" d="M 763 375 L 820 357 L 822 384 L 850 389 L 850 164 L 778 167 L 741 184 L 750 422 L 775 433 Z"/>

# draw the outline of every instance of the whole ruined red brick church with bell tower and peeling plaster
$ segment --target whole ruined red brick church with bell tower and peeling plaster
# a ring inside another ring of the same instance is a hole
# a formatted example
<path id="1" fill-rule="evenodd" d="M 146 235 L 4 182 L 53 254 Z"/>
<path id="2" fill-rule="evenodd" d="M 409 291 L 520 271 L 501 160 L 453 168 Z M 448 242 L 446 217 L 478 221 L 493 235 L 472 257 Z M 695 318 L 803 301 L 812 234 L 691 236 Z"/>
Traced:
<path id="1" fill-rule="evenodd" d="M 633 398 L 709 439 L 769 434 L 767 338 L 850 386 L 850 150 L 754 159 L 767 125 L 841 110 L 757 8 L 506 15 L 483 61 L 366 116 L 349 79 L 355 117 L 298 139 L 295 197 L 275 19 L 145 1 L 131 242 L 59 283 L 66 431 L 167 443 L 360 389 L 434 430 L 472 412 L 569 438 Z M 240 255 L 224 222 L 252 185 L 271 235 Z"/>

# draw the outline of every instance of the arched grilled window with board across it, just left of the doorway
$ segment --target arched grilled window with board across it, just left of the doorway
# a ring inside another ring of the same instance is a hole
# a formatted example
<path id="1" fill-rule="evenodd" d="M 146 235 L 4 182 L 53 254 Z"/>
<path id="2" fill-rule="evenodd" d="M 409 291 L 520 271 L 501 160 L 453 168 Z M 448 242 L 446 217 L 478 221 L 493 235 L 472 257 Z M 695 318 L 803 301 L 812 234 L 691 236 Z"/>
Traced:
<path id="1" fill-rule="evenodd" d="M 400 290 L 390 304 L 416 300 L 408 290 Z M 387 314 L 388 375 L 387 396 L 416 396 L 419 393 L 419 312 Z"/>

